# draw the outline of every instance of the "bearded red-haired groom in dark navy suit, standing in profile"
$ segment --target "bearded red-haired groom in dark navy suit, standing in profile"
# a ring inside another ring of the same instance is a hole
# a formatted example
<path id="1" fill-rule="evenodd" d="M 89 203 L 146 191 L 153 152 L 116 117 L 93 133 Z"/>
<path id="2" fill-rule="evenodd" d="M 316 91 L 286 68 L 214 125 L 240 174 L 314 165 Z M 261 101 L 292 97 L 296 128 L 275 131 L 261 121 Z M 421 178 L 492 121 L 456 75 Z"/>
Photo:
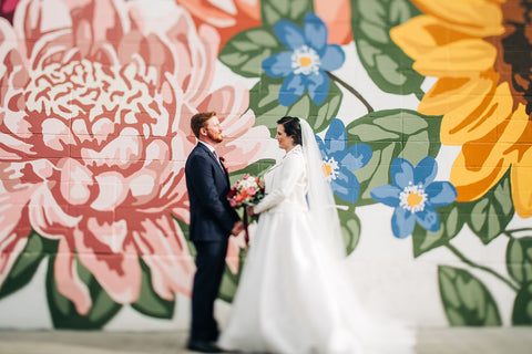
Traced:
<path id="1" fill-rule="evenodd" d="M 215 112 L 195 114 L 191 128 L 198 143 L 186 159 L 185 175 L 191 202 L 190 238 L 196 249 L 196 274 L 192 290 L 192 326 L 187 348 L 216 353 L 218 327 L 214 301 L 225 268 L 229 235 L 243 223 L 227 201 L 229 175 L 214 146 L 224 137 Z"/>

